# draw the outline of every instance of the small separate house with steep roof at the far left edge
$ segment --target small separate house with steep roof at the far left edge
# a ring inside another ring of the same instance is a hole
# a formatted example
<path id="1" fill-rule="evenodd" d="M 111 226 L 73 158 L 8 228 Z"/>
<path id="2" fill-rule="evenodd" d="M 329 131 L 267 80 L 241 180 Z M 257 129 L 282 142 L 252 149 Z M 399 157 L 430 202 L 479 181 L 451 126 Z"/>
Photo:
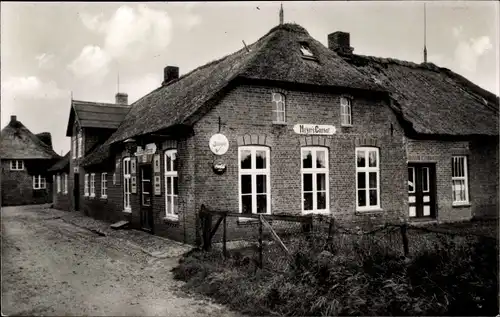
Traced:
<path id="1" fill-rule="evenodd" d="M 33 134 L 16 116 L 0 136 L 2 205 L 52 202 L 47 169 L 60 158 L 52 149 L 50 133 Z"/>

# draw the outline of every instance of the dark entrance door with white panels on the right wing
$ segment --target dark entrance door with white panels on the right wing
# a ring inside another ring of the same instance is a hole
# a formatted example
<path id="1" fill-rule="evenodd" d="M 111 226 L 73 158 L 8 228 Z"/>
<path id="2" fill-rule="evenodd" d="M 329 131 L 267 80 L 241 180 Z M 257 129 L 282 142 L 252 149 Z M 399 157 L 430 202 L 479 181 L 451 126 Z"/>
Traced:
<path id="1" fill-rule="evenodd" d="M 436 166 L 408 164 L 408 206 L 410 218 L 434 218 L 436 209 Z"/>

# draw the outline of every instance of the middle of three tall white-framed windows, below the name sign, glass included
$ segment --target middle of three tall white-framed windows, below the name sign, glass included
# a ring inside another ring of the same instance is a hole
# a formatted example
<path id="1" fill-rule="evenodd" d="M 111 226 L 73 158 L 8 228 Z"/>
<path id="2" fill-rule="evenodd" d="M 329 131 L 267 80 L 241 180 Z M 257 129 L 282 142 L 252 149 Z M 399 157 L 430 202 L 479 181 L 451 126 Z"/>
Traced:
<path id="1" fill-rule="evenodd" d="M 328 150 L 323 147 L 303 147 L 301 161 L 302 211 L 329 212 Z"/>

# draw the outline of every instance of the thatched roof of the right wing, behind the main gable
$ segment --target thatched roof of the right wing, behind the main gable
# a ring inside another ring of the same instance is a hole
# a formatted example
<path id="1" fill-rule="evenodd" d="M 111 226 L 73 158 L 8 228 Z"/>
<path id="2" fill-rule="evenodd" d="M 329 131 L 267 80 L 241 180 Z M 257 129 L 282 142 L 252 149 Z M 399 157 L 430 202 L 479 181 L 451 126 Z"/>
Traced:
<path id="1" fill-rule="evenodd" d="M 414 133 L 498 135 L 498 97 L 451 70 L 431 63 L 341 56 L 389 90 L 396 111 Z"/>

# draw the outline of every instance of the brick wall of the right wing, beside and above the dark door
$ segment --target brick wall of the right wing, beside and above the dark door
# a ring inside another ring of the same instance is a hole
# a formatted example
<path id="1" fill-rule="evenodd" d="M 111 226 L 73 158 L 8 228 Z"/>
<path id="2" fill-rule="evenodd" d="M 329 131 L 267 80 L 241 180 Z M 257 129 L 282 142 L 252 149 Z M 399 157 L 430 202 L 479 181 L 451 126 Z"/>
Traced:
<path id="1" fill-rule="evenodd" d="M 411 140 L 407 142 L 410 162 L 436 164 L 436 215 L 438 221 L 471 219 L 475 214 L 494 215 L 498 211 L 498 141 Z M 452 156 L 468 160 L 470 205 L 453 206 Z"/>

